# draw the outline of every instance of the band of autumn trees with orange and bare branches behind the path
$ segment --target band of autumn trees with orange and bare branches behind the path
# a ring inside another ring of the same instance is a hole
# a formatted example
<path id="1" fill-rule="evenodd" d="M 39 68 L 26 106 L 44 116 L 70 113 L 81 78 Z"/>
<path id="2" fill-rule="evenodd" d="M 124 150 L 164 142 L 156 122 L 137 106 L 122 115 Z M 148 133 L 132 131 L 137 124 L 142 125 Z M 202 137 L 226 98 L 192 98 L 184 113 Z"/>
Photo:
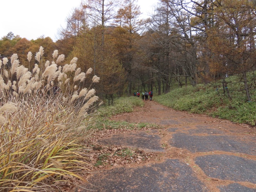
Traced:
<path id="1" fill-rule="evenodd" d="M 255 89 L 256 8 L 251 0 L 158 0 L 154 14 L 141 20 L 136 0 L 85 0 L 67 16 L 59 40 L 29 41 L 12 32 L 0 40 L 1 59 L 43 46 L 45 61 L 58 49 L 67 60 L 77 57 L 82 71 L 92 68 L 101 78 L 98 94 L 132 95 L 156 90 L 158 95 L 179 86 L 212 83 L 229 95 L 228 76 L 239 76 L 246 100 Z M 50 60 L 50 59 L 49 59 Z M 7 64 L 8 67 L 8 64 Z M 230 83 L 230 82 L 229 82 Z M 86 83 L 83 86 L 88 86 Z M 82 88 L 82 87 L 81 87 Z"/>

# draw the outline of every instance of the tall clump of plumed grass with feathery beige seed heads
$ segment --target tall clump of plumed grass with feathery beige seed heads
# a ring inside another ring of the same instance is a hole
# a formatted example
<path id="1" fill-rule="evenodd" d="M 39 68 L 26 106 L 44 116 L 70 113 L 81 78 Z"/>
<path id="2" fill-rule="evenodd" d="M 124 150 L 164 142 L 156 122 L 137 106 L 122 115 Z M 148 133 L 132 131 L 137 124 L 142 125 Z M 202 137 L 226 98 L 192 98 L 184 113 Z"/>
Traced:
<path id="1" fill-rule="evenodd" d="M 63 183 L 82 179 L 86 169 L 81 143 L 90 120 L 88 110 L 98 100 L 95 90 L 84 88 L 86 73 L 76 68 L 77 58 L 63 64 L 55 50 L 44 61 L 44 48 L 29 71 L 18 55 L 0 60 L 0 191 L 61 191 Z M 32 53 L 28 53 L 28 62 Z M 62 66 L 60 66 L 60 64 Z M 92 84 L 99 77 L 94 76 Z"/>

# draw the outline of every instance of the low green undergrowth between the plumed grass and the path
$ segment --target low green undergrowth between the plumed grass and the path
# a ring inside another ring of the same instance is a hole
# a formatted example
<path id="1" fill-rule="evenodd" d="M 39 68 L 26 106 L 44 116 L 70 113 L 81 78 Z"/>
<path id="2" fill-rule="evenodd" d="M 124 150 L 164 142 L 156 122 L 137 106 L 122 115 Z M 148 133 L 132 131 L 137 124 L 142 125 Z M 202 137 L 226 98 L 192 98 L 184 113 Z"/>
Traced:
<path id="1" fill-rule="evenodd" d="M 159 128 L 156 124 L 149 123 L 128 123 L 126 121 L 112 121 L 110 117 L 132 112 L 136 107 L 143 107 L 143 100 L 137 97 L 122 97 L 114 101 L 113 105 L 102 106 L 98 109 L 95 116 L 96 123 L 93 125 L 94 129 L 142 129 L 142 128 Z M 92 128 L 92 127 L 91 127 Z"/>

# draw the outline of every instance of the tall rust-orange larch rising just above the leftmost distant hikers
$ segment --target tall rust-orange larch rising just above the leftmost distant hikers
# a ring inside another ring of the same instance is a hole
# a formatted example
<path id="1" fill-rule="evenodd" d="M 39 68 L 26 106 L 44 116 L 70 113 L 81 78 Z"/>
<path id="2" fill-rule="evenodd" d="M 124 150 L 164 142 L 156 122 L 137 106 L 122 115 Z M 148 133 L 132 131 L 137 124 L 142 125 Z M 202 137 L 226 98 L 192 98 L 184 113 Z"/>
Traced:
<path id="1" fill-rule="evenodd" d="M 140 6 L 137 0 L 124 0 L 116 17 L 116 50 L 119 60 L 127 72 L 128 94 L 132 94 L 134 69 L 140 70 L 138 61 L 138 40 L 143 31 L 144 23 L 140 19 Z"/>

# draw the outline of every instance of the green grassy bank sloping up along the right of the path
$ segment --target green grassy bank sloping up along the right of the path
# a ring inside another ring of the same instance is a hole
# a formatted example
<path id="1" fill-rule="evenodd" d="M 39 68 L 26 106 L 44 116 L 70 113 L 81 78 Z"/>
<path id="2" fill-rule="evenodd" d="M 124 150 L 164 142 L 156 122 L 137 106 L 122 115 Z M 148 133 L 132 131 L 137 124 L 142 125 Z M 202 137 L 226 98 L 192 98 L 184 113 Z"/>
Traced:
<path id="1" fill-rule="evenodd" d="M 236 123 L 255 125 L 255 88 L 252 84 L 252 89 L 250 90 L 252 101 L 247 102 L 245 92 L 238 91 L 243 89 L 243 83 L 231 84 L 231 82 L 238 82 L 238 78 L 235 76 L 227 78 L 231 99 L 227 95 L 224 95 L 221 86 L 218 86 L 218 84 L 216 85 L 219 87 L 219 92 L 216 91 L 216 86 L 212 84 L 198 84 L 194 87 L 187 86 L 174 89 L 165 95 L 155 96 L 154 100 L 176 110 L 207 114 L 212 117 L 228 119 Z"/>

